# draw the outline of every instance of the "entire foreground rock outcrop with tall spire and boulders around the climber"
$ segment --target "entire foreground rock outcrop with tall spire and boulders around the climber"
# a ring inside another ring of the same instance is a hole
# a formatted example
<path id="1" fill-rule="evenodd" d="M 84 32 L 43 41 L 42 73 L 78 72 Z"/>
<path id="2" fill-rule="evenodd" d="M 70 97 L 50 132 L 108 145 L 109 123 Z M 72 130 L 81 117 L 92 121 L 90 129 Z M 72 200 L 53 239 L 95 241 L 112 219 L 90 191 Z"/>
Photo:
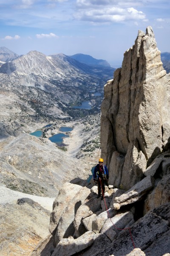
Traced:
<path id="1" fill-rule="evenodd" d="M 149 26 L 105 85 L 104 200 L 93 181 L 88 187 L 63 184 L 50 216 L 51 236 L 32 256 L 170 255 L 169 96 L 170 75 Z"/>

